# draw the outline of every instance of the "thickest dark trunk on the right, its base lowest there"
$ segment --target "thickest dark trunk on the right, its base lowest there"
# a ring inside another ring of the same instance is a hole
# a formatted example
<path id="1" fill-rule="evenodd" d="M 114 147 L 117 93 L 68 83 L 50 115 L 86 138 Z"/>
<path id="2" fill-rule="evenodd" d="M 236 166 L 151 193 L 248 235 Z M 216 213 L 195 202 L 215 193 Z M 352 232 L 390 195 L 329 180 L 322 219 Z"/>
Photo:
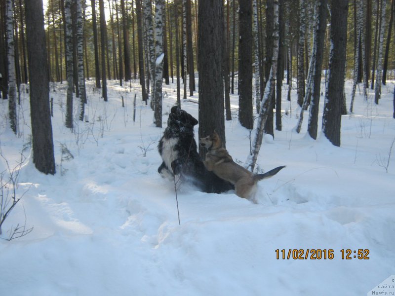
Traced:
<path id="1" fill-rule="evenodd" d="M 322 120 L 323 133 L 334 146 L 338 147 L 346 68 L 348 2 L 348 0 L 337 0 L 331 5 L 329 79 Z"/>

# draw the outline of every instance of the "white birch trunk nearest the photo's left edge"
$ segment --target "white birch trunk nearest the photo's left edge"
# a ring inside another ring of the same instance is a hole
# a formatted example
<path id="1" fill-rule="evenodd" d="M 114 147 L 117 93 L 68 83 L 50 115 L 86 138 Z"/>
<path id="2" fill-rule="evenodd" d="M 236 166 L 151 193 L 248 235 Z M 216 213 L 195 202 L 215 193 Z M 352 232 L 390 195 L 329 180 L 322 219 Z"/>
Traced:
<path id="1" fill-rule="evenodd" d="M 15 72 L 15 42 L 14 42 L 14 8 L 13 0 L 6 1 L 7 24 L 7 58 L 8 58 L 8 118 L 11 130 L 17 134 L 16 117 L 16 72 Z"/>

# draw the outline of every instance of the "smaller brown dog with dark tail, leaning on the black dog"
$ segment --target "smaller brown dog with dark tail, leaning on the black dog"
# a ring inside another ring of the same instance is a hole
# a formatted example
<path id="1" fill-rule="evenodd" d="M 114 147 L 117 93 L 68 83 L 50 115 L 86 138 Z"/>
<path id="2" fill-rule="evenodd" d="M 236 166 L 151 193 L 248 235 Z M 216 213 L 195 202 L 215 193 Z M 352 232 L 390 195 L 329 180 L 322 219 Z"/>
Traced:
<path id="1" fill-rule="evenodd" d="M 239 197 L 255 202 L 256 184 L 258 181 L 273 177 L 285 166 L 279 166 L 265 174 L 253 174 L 233 161 L 232 156 L 222 147 L 218 134 L 200 138 L 199 144 L 208 149 L 206 159 L 203 161 L 208 171 L 214 172 L 219 178 L 235 185 Z"/>

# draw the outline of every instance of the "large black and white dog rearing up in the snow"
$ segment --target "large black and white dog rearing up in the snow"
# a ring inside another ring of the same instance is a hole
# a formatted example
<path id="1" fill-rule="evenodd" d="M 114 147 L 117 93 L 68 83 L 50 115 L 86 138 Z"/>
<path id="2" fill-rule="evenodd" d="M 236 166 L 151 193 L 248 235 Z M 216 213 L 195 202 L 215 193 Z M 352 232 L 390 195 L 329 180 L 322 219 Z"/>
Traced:
<path id="1" fill-rule="evenodd" d="M 159 174 L 170 180 L 179 175 L 183 182 L 195 185 L 203 192 L 220 193 L 234 189 L 234 185 L 207 171 L 197 153 L 194 126 L 198 121 L 178 106 L 171 108 L 167 127 L 158 144 L 162 164 Z"/>

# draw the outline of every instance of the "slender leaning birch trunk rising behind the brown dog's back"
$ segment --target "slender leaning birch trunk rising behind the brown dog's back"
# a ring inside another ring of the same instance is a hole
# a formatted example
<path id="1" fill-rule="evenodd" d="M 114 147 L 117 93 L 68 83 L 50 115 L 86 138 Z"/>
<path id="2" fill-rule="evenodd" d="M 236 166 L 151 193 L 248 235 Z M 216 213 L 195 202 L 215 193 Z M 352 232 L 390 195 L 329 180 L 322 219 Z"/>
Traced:
<path id="1" fill-rule="evenodd" d="M 277 58 L 278 58 L 278 0 L 273 1 L 274 9 L 274 32 L 273 32 L 273 57 L 272 57 L 272 67 L 270 69 L 269 80 L 266 83 L 263 99 L 261 102 L 261 110 L 259 112 L 258 123 L 255 130 L 255 137 L 252 144 L 252 150 L 248 157 L 248 167 L 251 172 L 254 171 L 256 161 L 258 159 L 258 153 L 262 146 L 263 132 L 266 120 L 268 118 L 268 111 L 272 107 L 272 97 L 275 91 L 275 80 L 277 73 Z"/>

